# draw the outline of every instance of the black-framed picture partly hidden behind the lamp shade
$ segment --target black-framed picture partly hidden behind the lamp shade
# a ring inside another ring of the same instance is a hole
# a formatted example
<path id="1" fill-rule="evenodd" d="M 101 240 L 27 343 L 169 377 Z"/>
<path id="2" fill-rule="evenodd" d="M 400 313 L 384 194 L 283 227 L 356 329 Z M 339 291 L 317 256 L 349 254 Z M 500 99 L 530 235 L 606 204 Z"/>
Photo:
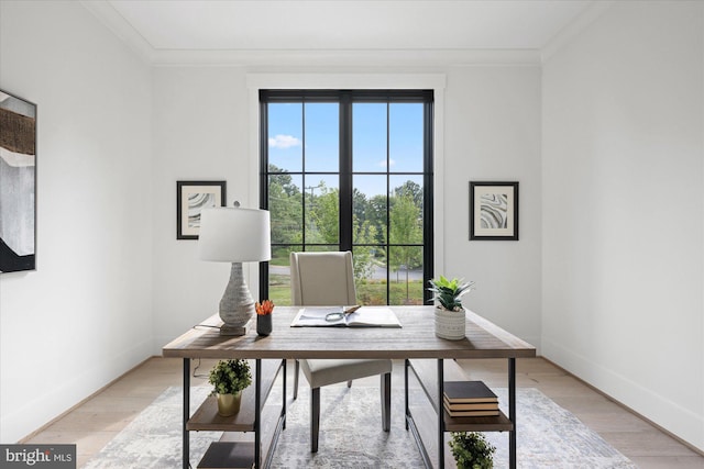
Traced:
<path id="1" fill-rule="evenodd" d="M 226 181 L 176 182 L 176 239 L 198 239 L 200 211 L 226 205 Z"/>

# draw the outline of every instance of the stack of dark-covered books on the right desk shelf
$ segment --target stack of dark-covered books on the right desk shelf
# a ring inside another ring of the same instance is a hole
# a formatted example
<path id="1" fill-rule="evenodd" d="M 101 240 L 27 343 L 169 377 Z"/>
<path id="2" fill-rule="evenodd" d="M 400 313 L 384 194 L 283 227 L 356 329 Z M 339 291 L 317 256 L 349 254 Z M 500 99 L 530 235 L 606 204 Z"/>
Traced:
<path id="1" fill-rule="evenodd" d="M 452 417 L 496 416 L 498 398 L 482 381 L 446 381 L 444 410 Z"/>

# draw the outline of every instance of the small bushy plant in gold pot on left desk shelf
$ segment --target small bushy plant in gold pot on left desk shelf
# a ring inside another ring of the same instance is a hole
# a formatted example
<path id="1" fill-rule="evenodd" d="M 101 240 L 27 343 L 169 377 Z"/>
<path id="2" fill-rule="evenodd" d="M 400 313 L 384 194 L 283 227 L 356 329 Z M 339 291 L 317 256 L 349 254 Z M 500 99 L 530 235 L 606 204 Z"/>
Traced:
<path id="1" fill-rule="evenodd" d="M 243 359 L 220 360 L 210 370 L 208 379 L 215 387 L 212 393 L 218 399 L 218 414 L 223 417 L 240 412 L 242 390 L 252 384 L 250 364 Z"/>

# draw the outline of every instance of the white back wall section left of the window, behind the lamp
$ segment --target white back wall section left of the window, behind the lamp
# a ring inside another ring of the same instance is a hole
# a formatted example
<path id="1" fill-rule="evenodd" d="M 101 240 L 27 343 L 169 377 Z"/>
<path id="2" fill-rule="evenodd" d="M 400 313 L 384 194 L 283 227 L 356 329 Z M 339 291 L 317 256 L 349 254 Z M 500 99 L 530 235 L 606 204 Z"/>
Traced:
<path id="1" fill-rule="evenodd" d="M 197 241 L 176 239 L 176 181 L 226 180 L 227 203 L 250 200 L 246 76 L 231 67 L 153 71 L 154 353 L 218 312 L 230 267 L 198 259 Z M 248 268 L 249 266 L 245 266 Z M 253 295 L 256 290 L 252 288 Z"/>

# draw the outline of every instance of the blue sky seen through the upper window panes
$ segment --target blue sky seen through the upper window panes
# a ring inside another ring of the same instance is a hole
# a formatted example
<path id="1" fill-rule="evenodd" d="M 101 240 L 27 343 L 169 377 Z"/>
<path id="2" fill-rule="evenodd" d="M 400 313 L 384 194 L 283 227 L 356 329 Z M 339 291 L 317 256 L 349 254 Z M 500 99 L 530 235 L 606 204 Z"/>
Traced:
<path id="1" fill-rule="evenodd" d="M 354 186 L 374 196 L 386 193 L 385 174 L 387 163 L 392 172 L 422 171 L 422 104 L 393 103 L 389 107 L 389 160 L 386 158 L 387 105 L 385 103 L 353 104 L 353 170 L 355 172 L 380 172 L 380 176 L 360 175 Z M 306 171 L 338 171 L 339 107 L 337 103 L 305 104 L 306 135 L 302 132 L 302 104 L 270 103 L 268 152 L 270 163 L 288 171 L 302 169 L 304 141 Z M 316 176 L 331 187 L 336 178 Z M 421 183 L 420 176 L 392 176 L 392 187 L 413 179 Z M 398 181 L 398 183 L 395 183 Z"/>

